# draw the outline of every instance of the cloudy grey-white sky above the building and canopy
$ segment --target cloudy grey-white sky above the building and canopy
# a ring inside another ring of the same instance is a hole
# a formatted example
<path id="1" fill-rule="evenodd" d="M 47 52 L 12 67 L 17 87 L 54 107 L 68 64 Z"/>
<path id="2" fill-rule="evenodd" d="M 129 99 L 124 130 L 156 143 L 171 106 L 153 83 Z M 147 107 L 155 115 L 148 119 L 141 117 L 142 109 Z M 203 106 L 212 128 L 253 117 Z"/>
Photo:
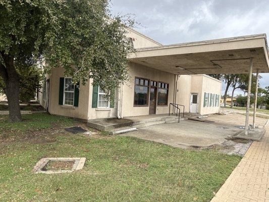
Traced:
<path id="1" fill-rule="evenodd" d="M 113 14 L 135 14 L 135 20 L 142 25 L 136 30 L 165 45 L 249 34 L 269 35 L 268 0 L 111 1 Z M 261 87 L 269 86 L 269 74 L 261 76 Z M 232 90 L 229 91 L 231 94 Z"/>

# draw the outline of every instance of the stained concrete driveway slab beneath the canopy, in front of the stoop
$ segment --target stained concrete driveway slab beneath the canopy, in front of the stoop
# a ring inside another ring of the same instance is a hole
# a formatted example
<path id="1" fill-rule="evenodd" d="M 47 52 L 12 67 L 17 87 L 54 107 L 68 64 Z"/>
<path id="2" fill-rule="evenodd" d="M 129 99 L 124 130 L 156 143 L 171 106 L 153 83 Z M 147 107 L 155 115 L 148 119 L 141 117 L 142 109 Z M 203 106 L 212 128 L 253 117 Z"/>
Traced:
<path id="1" fill-rule="evenodd" d="M 145 140 L 169 144 L 175 147 L 208 147 L 226 141 L 226 137 L 239 132 L 236 127 L 181 121 L 180 123 L 159 124 L 121 134 Z"/>

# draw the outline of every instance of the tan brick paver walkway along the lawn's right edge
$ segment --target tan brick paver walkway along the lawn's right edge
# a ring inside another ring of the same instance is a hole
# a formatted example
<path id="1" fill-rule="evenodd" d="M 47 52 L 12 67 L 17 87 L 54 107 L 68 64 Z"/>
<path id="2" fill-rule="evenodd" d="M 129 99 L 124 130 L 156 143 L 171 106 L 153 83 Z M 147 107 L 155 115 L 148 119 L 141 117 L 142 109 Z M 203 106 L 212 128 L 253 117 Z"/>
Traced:
<path id="1" fill-rule="evenodd" d="M 211 202 L 269 202 L 269 125 L 260 142 L 247 153 Z"/>

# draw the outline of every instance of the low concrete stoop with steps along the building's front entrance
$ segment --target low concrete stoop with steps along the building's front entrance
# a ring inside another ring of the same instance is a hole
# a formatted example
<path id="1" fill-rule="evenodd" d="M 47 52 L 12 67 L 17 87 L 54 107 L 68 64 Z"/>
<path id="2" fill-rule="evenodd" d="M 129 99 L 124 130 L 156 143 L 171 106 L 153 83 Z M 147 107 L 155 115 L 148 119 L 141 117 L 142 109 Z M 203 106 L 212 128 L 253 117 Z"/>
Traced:
<path id="1" fill-rule="evenodd" d="M 180 117 L 180 121 L 187 120 L 187 117 Z M 87 126 L 92 128 L 107 131 L 111 135 L 117 135 L 122 133 L 127 133 L 135 131 L 139 128 L 144 128 L 148 126 L 153 126 L 163 123 L 177 123 L 178 117 L 168 116 L 168 117 L 156 117 L 144 120 L 129 120 L 129 119 L 103 119 L 103 120 L 93 120 L 88 121 Z"/>

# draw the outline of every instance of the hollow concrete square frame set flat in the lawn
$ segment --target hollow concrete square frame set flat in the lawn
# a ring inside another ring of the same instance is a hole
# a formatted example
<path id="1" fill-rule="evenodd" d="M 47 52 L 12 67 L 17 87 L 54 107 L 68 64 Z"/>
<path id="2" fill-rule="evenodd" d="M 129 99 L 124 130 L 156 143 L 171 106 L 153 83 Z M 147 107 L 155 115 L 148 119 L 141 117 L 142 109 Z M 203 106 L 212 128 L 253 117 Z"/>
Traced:
<path id="1" fill-rule="evenodd" d="M 70 170 L 42 170 L 49 162 L 74 162 L 72 169 Z M 85 164 L 86 158 L 42 158 L 40 159 L 34 169 L 34 173 L 45 173 L 45 174 L 58 174 L 58 173 L 71 173 L 76 170 L 81 170 Z"/>

